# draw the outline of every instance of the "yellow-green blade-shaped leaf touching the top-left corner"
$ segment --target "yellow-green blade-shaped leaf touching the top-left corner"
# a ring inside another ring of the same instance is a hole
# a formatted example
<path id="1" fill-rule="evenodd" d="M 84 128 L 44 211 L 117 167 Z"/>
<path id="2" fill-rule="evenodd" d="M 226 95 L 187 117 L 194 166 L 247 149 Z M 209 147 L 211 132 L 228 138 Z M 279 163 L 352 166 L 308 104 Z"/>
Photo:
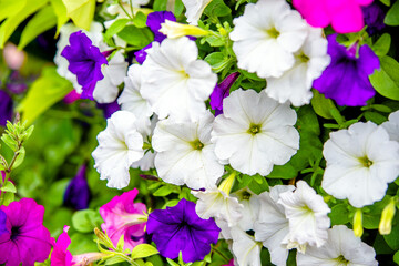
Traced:
<path id="1" fill-rule="evenodd" d="M 42 8 L 47 2 L 48 0 L 27 1 L 24 7 L 19 12 L 8 17 L 8 19 L 0 27 L 0 49 L 4 47 L 6 41 L 17 30 L 17 27 L 29 16 Z"/>

